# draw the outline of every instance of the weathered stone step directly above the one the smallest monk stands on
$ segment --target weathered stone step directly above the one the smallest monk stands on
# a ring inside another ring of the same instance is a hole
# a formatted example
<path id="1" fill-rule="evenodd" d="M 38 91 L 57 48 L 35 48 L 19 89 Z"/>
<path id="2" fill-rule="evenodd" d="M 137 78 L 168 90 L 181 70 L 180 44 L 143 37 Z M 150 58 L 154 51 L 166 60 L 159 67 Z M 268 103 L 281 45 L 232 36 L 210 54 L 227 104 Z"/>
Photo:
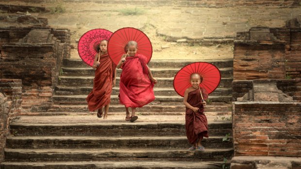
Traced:
<path id="1" fill-rule="evenodd" d="M 204 138 L 207 148 L 232 148 L 223 137 Z M 69 148 L 183 148 L 191 146 L 185 136 L 155 137 L 95 137 L 95 136 L 20 136 L 8 137 L 6 148 L 14 149 L 69 149 Z"/>

